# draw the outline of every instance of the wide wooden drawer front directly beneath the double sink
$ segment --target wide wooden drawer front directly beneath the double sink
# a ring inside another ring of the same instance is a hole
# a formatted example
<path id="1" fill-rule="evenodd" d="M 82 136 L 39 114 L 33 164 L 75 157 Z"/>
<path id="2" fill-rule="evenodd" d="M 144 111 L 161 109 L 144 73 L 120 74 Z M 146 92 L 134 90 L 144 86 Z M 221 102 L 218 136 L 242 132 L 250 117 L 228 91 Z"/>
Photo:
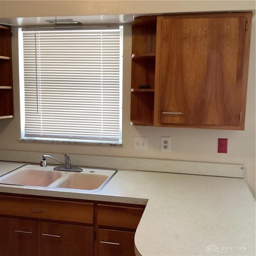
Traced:
<path id="1" fill-rule="evenodd" d="M 93 224 L 93 204 L 0 196 L 0 214 Z"/>

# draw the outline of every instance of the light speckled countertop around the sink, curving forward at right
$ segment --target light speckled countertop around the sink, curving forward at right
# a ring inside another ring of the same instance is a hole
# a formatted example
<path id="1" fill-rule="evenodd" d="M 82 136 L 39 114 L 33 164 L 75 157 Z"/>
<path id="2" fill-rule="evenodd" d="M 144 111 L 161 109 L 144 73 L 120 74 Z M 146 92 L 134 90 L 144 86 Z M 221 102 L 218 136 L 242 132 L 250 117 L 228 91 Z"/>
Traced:
<path id="1" fill-rule="evenodd" d="M 0 174 L 22 165 L 0 161 Z M 256 255 L 255 200 L 242 178 L 118 170 L 98 192 L 7 185 L 0 192 L 146 204 L 138 256 Z"/>

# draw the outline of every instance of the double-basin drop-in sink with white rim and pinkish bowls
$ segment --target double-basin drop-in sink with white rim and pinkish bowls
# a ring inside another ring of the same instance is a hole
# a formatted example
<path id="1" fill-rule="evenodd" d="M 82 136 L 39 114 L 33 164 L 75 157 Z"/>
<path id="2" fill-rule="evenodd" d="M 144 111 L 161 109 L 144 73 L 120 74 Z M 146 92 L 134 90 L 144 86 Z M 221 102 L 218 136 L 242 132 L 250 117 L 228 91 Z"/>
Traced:
<path id="1" fill-rule="evenodd" d="M 56 166 L 40 167 L 27 164 L 0 176 L 0 184 L 101 190 L 117 172 L 96 168 L 82 168 L 82 172 L 66 172 L 53 170 L 54 167 Z"/>

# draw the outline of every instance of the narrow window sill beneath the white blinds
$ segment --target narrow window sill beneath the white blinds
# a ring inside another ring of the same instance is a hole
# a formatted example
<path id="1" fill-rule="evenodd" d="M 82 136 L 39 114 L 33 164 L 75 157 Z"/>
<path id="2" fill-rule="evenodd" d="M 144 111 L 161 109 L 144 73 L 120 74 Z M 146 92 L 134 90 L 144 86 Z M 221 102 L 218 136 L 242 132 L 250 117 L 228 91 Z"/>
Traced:
<path id="1" fill-rule="evenodd" d="M 123 146 L 117 143 L 100 143 L 100 142 L 76 142 L 76 141 L 61 141 L 61 140 L 36 140 L 36 139 L 22 139 L 18 138 L 19 142 L 32 142 L 32 143 L 49 143 L 49 144 L 72 144 L 72 145 L 92 145 L 92 146 Z"/>

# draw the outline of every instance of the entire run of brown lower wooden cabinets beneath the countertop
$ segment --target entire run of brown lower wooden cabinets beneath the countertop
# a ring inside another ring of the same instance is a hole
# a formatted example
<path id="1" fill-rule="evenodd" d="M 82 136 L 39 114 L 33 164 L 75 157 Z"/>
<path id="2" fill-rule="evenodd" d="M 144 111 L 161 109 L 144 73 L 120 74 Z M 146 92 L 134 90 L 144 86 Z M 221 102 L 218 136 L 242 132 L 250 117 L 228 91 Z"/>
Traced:
<path id="1" fill-rule="evenodd" d="M 0 256 L 135 256 L 144 206 L 0 193 Z"/>

